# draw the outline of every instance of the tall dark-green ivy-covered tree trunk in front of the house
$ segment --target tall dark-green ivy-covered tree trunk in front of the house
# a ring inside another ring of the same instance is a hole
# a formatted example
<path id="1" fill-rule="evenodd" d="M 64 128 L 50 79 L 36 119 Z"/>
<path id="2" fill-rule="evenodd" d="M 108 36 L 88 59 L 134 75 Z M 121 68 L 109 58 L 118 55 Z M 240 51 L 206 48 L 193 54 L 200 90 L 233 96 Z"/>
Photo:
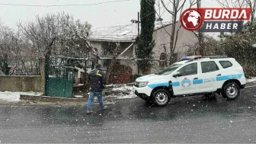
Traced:
<path id="1" fill-rule="evenodd" d="M 155 46 L 153 32 L 155 27 L 155 0 L 142 0 L 140 2 L 141 34 L 139 35 L 136 56 L 139 59 L 138 66 L 142 73 L 149 72 L 152 66 L 152 49 Z"/>

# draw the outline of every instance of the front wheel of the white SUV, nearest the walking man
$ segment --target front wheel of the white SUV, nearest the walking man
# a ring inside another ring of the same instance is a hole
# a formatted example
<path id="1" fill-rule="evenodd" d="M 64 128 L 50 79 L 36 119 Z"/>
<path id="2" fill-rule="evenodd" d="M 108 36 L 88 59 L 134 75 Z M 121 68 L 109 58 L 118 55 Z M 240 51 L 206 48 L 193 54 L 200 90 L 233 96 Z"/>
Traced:
<path id="1" fill-rule="evenodd" d="M 171 95 L 165 89 L 158 89 L 152 94 L 152 101 L 158 106 L 165 106 L 171 101 Z"/>

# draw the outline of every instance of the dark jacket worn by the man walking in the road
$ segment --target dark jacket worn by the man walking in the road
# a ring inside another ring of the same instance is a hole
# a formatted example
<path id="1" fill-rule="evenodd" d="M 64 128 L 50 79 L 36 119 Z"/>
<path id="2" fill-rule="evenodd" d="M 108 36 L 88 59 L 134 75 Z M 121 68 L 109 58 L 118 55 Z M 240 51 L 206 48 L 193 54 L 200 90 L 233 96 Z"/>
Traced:
<path id="1" fill-rule="evenodd" d="M 104 85 L 107 83 L 104 73 L 99 69 L 93 69 L 89 72 L 88 82 L 91 86 L 90 91 L 103 91 Z"/>

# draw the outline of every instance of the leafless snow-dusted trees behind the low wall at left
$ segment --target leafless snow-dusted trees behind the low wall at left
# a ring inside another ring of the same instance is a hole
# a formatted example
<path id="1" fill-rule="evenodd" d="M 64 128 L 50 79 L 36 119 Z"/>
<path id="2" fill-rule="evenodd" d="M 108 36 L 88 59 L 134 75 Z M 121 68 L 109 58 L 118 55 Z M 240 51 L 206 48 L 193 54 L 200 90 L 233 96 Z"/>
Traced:
<path id="1" fill-rule="evenodd" d="M 39 74 L 39 59 L 43 56 L 98 56 L 88 42 L 91 24 L 75 21 L 69 14 L 37 15 L 35 21 L 17 25 L 15 31 L 0 27 L 0 66 L 6 75 Z"/>

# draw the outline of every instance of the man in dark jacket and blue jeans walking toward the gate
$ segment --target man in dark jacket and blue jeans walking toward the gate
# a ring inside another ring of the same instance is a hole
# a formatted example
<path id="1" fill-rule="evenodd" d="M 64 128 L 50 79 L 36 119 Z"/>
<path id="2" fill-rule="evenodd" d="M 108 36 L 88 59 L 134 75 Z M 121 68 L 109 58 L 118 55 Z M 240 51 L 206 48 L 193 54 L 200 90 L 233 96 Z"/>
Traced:
<path id="1" fill-rule="evenodd" d="M 88 98 L 87 114 L 92 113 L 91 104 L 93 103 L 95 96 L 98 98 L 101 110 L 106 109 L 107 106 L 104 106 L 103 104 L 102 91 L 103 91 L 103 88 L 105 87 L 104 85 L 106 85 L 107 82 L 103 72 L 101 71 L 100 64 L 97 64 L 95 66 L 95 69 L 89 72 L 88 82 L 90 84 L 90 96 Z"/>

